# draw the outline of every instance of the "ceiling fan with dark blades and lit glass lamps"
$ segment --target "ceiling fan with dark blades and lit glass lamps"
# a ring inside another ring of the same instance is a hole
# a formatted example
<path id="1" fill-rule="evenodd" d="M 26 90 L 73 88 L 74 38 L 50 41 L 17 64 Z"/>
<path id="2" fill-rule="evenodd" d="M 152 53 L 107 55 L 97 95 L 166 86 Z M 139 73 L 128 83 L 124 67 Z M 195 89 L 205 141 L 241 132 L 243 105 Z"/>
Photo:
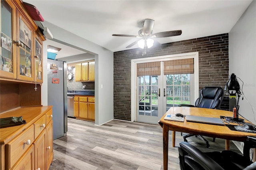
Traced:
<path id="1" fill-rule="evenodd" d="M 138 43 L 140 48 L 144 47 L 152 47 L 153 43 L 156 42 L 158 45 L 161 45 L 158 41 L 153 40 L 152 38 L 164 38 L 164 37 L 172 37 L 172 36 L 180 36 L 182 31 L 181 30 L 174 30 L 174 31 L 165 31 L 165 32 L 153 32 L 153 26 L 154 26 L 154 20 L 151 19 L 145 19 L 141 22 L 142 29 L 138 31 L 138 36 L 133 35 L 125 35 L 125 34 L 112 34 L 112 36 L 120 36 L 120 37 L 136 37 L 140 38 L 140 40 L 137 40 L 136 42 L 131 43 L 126 48 L 132 47 L 136 43 Z"/>

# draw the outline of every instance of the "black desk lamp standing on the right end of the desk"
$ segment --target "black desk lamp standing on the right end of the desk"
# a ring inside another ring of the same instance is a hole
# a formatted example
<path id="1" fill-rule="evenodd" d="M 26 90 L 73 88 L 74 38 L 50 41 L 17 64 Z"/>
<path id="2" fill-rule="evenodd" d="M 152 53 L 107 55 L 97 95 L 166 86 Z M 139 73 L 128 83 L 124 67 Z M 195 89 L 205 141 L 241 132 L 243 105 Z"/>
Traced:
<path id="1" fill-rule="evenodd" d="M 238 96 L 237 103 L 234 107 L 236 109 L 236 115 L 234 115 L 234 117 L 226 117 L 226 120 L 244 123 L 244 119 L 238 118 L 239 99 L 241 96 L 241 91 L 240 91 L 240 85 L 239 85 L 238 80 L 236 79 L 236 75 L 234 73 L 232 73 L 231 75 L 228 76 L 228 81 L 225 85 L 224 90 L 227 91 L 230 99 L 236 99 L 236 95 Z"/>

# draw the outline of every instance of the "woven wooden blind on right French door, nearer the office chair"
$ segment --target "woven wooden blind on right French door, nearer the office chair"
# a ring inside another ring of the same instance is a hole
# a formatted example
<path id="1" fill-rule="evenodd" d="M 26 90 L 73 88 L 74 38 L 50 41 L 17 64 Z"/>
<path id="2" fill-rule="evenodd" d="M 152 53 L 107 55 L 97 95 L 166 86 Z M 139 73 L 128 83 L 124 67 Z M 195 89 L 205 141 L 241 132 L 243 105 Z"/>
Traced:
<path id="1" fill-rule="evenodd" d="M 194 73 L 194 59 L 175 59 L 164 61 L 164 75 Z"/>

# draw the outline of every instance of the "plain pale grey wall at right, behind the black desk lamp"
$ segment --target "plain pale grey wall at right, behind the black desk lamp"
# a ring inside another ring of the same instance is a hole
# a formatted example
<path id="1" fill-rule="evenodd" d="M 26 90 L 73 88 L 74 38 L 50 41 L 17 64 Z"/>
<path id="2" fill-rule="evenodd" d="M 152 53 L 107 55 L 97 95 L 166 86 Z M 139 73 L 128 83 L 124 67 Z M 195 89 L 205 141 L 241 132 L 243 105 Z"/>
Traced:
<path id="1" fill-rule="evenodd" d="M 244 81 L 243 93 L 248 102 L 256 108 L 256 1 L 252 1 L 238 22 L 229 32 L 229 73 Z M 238 79 L 242 88 L 242 82 Z M 239 113 L 256 123 L 256 113 L 240 97 Z M 241 117 L 240 117 L 241 118 Z"/>

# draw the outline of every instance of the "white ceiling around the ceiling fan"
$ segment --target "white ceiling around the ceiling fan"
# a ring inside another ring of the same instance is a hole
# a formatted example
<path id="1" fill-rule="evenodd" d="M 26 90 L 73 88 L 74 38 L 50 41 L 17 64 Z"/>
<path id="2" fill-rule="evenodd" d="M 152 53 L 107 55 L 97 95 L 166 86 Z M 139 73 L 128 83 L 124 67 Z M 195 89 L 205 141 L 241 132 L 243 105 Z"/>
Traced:
<path id="1" fill-rule="evenodd" d="M 230 32 L 252 0 L 24 0 L 44 20 L 113 52 L 138 40 L 112 34 L 138 35 L 141 21 L 155 20 L 153 33 L 182 30 L 176 42 Z M 53 35 L 54 36 L 54 35 Z M 131 48 L 137 48 L 134 45 Z M 64 51 L 64 50 L 63 50 Z"/>

